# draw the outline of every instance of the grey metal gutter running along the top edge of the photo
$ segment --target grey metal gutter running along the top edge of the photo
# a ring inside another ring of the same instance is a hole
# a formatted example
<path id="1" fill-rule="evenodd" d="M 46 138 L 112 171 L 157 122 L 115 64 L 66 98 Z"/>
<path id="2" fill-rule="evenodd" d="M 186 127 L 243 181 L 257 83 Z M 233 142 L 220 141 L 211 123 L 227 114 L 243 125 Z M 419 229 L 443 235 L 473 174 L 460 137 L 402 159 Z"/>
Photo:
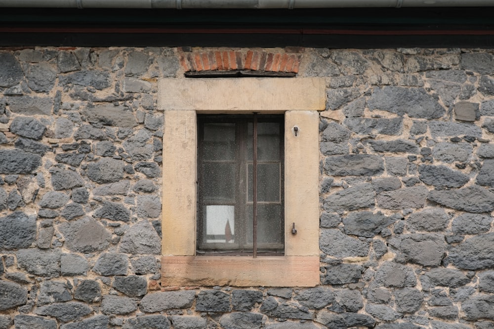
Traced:
<path id="1" fill-rule="evenodd" d="M 352 7 L 487 7 L 493 0 L 0 0 L 0 7 L 296 9 Z"/>

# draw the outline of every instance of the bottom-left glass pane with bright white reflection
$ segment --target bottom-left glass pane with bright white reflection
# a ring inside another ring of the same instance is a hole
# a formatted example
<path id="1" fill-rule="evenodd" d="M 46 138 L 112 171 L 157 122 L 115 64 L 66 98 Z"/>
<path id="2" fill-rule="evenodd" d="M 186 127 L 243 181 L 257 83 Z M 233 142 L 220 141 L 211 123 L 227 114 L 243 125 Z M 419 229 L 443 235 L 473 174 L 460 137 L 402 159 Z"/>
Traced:
<path id="1" fill-rule="evenodd" d="M 235 206 L 206 206 L 204 241 L 235 242 Z"/>

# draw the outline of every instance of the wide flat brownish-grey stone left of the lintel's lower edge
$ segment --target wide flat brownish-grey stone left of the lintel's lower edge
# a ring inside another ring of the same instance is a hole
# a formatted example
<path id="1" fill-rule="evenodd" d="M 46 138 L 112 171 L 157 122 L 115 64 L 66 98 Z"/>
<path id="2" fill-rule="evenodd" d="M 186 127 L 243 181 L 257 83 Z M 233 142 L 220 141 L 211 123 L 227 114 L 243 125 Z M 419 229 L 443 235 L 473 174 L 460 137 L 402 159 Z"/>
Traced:
<path id="1" fill-rule="evenodd" d="M 137 126 L 135 116 L 130 109 L 123 106 L 99 105 L 82 111 L 90 123 L 100 123 L 107 126 L 133 128 Z"/>

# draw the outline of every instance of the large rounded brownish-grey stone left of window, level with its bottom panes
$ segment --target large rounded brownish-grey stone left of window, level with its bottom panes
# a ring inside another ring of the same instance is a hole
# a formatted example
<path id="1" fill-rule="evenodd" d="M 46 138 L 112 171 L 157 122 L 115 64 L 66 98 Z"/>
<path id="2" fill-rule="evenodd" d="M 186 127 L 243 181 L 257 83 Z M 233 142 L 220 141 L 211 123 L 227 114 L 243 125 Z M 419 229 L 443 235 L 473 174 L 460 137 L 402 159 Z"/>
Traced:
<path id="1" fill-rule="evenodd" d="M 82 218 L 60 225 L 66 248 L 79 253 L 105 250 L 110 244 L 111 234 L 94 219 Z"/>

